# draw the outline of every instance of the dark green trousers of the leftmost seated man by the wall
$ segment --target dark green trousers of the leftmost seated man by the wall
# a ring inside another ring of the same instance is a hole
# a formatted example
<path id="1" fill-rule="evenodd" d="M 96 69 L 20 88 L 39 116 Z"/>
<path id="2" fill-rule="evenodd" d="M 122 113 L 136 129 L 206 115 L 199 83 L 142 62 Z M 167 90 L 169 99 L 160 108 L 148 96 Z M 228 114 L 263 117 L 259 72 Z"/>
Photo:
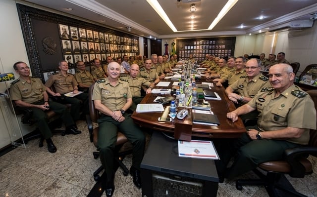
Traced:
<path id="1" fill-rule="evenodd" d="M 43 105 L 44 100 L 38 101 L 33 103 L 35 105 Z M 50 101 L 50 110 L 55 112 L 56 114 L 60 115 L 60 118 L 63 120 L 65 126 L 71 126 L 74 123 L 73 119 L 71 118 L 67 107 L 57 103 Z M 39 108 L 30 108 L 32 110 L 32 118 L 36 120 L 36 126 L 39 128 L 40 132 L 42 133 L 44 139 L 49 139 L 52 137 L 52 131 L 48 125 L 48 116 L 45 113 L 45 111 L 39 109 Z"/>

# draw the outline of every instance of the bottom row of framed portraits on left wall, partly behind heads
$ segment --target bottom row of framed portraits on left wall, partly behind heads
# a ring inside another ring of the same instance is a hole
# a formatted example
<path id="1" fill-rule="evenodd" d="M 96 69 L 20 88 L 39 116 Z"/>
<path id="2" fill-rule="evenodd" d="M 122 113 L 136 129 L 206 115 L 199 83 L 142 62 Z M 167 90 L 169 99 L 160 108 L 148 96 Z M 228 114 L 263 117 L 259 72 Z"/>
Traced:
<path id="1" fill-rule="evenodd" d="M 124 55 L 130 56 L 137 56 L 138 53 L 84 53 L 84 54 L 65 54 L 64 60 L 68 62 L 68 65 L 71 67 L 78 61 L 83 61 L 85 64 L 91 62 L 93 59 L 98 58 L 103 63 L 106 62 L 106 57 L 111 56 L 112 58 L 123 57 Z M 123 60 L 122 60 L 123 61 Z"/>

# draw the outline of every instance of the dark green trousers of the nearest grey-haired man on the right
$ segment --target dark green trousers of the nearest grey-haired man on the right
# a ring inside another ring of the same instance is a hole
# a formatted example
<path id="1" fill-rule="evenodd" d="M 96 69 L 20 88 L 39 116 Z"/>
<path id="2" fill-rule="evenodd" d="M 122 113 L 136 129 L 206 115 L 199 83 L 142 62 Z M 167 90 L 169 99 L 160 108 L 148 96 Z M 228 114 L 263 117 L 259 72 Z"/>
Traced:
<path id="1" fill-rule="evenodd" d="M 247 130 L 251 128 L 259 130 L 257 126 L 247 127 Z M 231 143 L 231 145 L 228 143 Z M 286 149 L 301 146 L 285 140 L 252 140 L 247 133 L 242 134 L 241 138 L 228 143 L 225 143 L 226 145 L 223 144 L 221 150 L 217 150 L 221 160 L 216 162 L 218 173 L 220 175 L 222 173 L 228 179 L 253 170 L 260 163 L 281 160 L 285 157 L 284 152 Z M 234 162 L 226 169 L 232 156 L 235 156 Z"/>

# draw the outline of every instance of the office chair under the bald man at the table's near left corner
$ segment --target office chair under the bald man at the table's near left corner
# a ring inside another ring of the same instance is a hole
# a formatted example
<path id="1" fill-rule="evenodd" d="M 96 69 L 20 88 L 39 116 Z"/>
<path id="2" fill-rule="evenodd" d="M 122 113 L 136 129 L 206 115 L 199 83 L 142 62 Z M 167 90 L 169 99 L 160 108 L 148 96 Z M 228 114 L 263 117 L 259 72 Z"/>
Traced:
<path id="1" fill-rule="evenodd" d="M 98 132 L 99 132 L 99 127 L 93 126 L 93 122 L 97 123 L 97 120 L 100 116 L 99 111 L 95 109 L 95 104 L 94 101 L 92 100 L 92 95 L 93 95 L 93 90 L 94 90 L 94 84 L 92 84 L 89 88 L 89 115 L 86 115 L 87 118 L 87 125 L 88 125 L 88 131 L 89 131 L 89 137 L 90 137 L 90 142 L 93 142 L 94 145 L 97 147 L 97 142 L 98 142 Z M 121 133 L 118 132 L 117 136 L 117 142 L 115 146 L 115 161 L 116 163 L 122 168 L 123 170 L 123 175 L 127 176 L 129 174 L 128 168 L 123 164 L 122 160 L 126 155 L 129 155 L 132 153 L 132 149 L 126 150 L 126 151 L 120 151 L 121 147 L 128 142 L 127 138 Z M 94 152 L 94 158 L 97 159 L 99 158 L 99 152 Z M 95 181 L 98 181 L 100 178 L 99 173 L 104 169 L 104 166 L 100 166 L 95 172 L 94 172 L 94 179 Z"/>

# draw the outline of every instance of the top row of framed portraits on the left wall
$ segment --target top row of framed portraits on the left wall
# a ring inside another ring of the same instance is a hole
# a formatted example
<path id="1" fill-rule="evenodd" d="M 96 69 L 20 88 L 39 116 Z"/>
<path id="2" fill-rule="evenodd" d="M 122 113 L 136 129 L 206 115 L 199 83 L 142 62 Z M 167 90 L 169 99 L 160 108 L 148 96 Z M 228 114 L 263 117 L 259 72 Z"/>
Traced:
<path id="1" fill-rule="evenodd" d="M 68 25 L 59 24 L 60 39 L 84 40 L 90 42 L 138 45 L 137 39 L 117 36 L 105 32 L 87 30 Z"/>

